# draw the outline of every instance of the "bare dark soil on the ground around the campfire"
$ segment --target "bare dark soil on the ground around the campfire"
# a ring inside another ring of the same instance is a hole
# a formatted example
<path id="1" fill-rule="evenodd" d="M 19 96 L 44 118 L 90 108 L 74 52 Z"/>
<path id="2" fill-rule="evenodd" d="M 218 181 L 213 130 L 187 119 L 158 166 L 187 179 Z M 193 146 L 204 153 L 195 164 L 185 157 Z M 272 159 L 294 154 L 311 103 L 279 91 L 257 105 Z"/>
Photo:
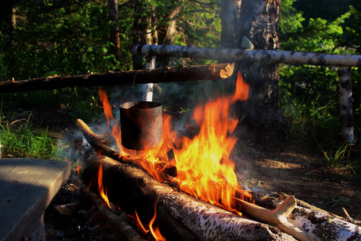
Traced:
<path id="1" fill-rule="evenodd" d="M 69 143 L 69 150 L 74 150 L 81 135 L 73 122 L 64 122 L 67 119 L 62 118 L 64 115 L 66 113 L 61 111 L 52 114 L 33 111 L 33 124 L 39 121 L 49 126 L 54 137 L 61 137 Z M 15 116 L 23 118 L 26 114 Z M 342 209 L 345 208 L 352 219 L 361 220 L 360 170 L 356 170 L 356 175 L 349 170 L 340 174 L 328 172 L 319 147 L 307 139 L 286 138 L 286 124 L 282 123 L 268 123 L 252 130 L 242 125 L 236 128 L 234 135 L 238 141 L 232 159 L 236 162 L 239 182 L 250 190 L 276 197 L 281 192 L 295 195 L 297 199 L 342 217 L 345 217 Z M 360 149 L 360 146 L 355 148 Z M 359 160 L 358 153 L 350 158 Z M 76 173 L 76 160 L 69 161 Z M 45 210 L 46 240 L 122 240 L 91 201 L 79 193 L 73 184 L 75 176 L 73 174 L 62 186 Z M 57 211 L 58 205 L 69 203 L 76 203 L 70 215 Z"/>

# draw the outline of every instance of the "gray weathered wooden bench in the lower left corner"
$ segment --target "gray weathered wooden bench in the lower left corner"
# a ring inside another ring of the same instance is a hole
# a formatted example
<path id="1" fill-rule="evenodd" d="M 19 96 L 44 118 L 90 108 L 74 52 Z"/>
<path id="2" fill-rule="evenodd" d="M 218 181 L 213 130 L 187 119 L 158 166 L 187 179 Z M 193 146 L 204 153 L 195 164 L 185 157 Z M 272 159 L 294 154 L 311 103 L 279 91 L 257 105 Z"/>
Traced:
<path id="1" fill-rule="evenodd" d="M 0 159 L 0 241 L 45 240 L 45 208 L 69 177 L 69 162 Z"/>

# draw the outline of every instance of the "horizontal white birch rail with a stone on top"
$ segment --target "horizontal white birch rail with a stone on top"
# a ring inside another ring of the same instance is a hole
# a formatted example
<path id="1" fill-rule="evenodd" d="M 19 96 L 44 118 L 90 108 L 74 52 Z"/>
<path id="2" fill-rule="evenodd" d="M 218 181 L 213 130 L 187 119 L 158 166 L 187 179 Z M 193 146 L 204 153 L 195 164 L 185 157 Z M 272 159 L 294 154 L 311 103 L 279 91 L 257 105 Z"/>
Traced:
<path id="1" fill-rule="evenodd" d="M 361 55 L 333 55 L 317 52 L 295 52 L 281 50 L 243 50 L 199 48 L 178 45 L 141 45 L 131 46 L 132 54 L 158 55 L 171 57 L 191 57 L 223 61 L 251 61 L 270 64 L 309 64 L 330 66 L 361 67 Z"/>

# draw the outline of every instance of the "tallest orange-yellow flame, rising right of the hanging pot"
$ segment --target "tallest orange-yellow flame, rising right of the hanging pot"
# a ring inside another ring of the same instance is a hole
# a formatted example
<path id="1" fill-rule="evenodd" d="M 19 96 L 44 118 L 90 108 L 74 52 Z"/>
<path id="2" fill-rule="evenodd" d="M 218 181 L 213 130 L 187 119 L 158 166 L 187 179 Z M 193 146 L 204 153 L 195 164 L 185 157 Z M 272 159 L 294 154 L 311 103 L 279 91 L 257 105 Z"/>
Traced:
<path id="1" fill-rule="evenodd" d="M 238 120 L 228 117 L 231 104 L 248 98 L 249 85 L 238 72 L 233 96 L 218 98 L 197 107 L 193 117 L 200 132 L 183 137 L 182 149 L 173 150 L 180 188 L 194 197 L 239 213 L 235 197 L 238 185 L 235 163 L 229 159 L 236 138 L 229 136 Z"/>

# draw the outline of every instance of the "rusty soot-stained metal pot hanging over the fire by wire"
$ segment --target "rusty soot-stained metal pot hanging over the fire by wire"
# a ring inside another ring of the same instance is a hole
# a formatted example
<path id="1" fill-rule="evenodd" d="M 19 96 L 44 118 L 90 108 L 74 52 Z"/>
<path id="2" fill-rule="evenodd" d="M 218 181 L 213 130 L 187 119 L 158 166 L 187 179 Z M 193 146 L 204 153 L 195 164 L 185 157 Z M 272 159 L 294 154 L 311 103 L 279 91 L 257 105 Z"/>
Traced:
<path id="1" fill-rule="evenodd" d="M 162 104 L 150 101 L 121 104 L 120 127 L 123 147 L 148 150 L 163 142 Z"/>

